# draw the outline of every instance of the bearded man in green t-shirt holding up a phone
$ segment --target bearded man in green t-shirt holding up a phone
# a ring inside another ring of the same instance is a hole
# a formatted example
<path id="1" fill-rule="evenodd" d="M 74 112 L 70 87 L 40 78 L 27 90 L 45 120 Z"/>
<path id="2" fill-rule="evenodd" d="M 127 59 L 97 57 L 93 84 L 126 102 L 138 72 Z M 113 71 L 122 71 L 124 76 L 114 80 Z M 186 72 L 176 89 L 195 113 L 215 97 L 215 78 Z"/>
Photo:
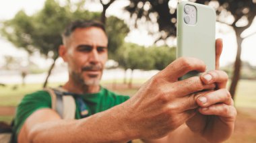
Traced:
<path id="1" fill-rule="evenodd" d="M 222 142 L 234 130 L 236 109 L 220 70 L 178 81 L 191 70 L 205 72 L 196 58 L 179 58 L 131 97 L 100 87 L 107 56 L 104 26 L 75 21 L 63 34 L 59 55 L 69 68 L 63 89 L 82 97 L 88 117 L 61 120 L 45 91 L 26 95 L 16 115 L 18 142 Z M 216 68 L 222 41 L 216 40 Z M 78 106 L 77 106 L 78 107 Z"/>

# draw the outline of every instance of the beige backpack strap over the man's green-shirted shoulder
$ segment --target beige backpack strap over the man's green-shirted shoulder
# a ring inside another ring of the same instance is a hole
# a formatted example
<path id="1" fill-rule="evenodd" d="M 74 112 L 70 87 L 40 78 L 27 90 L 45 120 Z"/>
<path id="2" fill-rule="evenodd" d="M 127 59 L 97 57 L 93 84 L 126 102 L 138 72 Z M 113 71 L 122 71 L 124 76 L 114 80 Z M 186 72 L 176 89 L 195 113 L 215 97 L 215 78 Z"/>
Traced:
<path id="1" fill-rule="evenodd" d="M 52 109 L 57 111 L 62 119 L 75 119 L 76 106 L 72 95 L 64 95 L 61 87 L 55 89 L 45 88 L 44 91 L 51 95 Z"/>

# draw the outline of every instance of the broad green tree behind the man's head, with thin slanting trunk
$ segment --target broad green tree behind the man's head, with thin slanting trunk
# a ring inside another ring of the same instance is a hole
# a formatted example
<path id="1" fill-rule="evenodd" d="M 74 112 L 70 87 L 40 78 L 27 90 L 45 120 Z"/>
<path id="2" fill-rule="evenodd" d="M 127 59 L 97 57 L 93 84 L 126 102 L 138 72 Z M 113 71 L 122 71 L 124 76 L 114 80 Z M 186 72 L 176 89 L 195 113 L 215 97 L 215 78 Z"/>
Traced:
<path id="1" fill-rule="evenodd" d="M 15 46 L 24 48 L 29 54 L 39 51 L 46 58 L 53 59 L 44 87 L 46 87 L 51 70 L 55 66 L 55 60 L 58 58 L 58 47 L 62 44 L 61 33 L 67 24 L 75 19 L 100 19 L 100 13 L 86 11 L 83 8 L 84 3 L 84 0 L 77 3 L 66 1 L 65 5 L 60 6 L 58 1 L 46 0 L 44 7 L 38 13 L 28 16 L 24 11 L 19 11 L 13 19 L 3 23 L 1 34 Z M 111 46 L 110 55 L 114 55 L 111 52 L 115 52 L 119 48 L 123 42 L 121 39 L 127 34 L 121 32 L 129 32 L 129 28 L 117 17 L 110 17 L 109 22 L 110 24 L 106 24 L 106 30 L 115 29 L 108 34 Z M 119 27 L 108 28 L 108 26 L 116 25 Z M 110 58 L 112 57 L 110 56 Z"/>

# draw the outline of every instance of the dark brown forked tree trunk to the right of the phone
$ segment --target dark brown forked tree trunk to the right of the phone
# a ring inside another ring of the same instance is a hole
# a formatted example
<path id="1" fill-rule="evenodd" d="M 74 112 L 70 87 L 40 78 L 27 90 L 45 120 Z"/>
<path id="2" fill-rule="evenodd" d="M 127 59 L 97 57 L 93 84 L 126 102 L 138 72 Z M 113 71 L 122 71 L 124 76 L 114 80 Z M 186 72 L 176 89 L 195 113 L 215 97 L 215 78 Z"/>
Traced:
<path id="1" fill-rule="evenodd" d="M 235 30 L 236 32 L 236 42 L 237 42 L 237 53 L 236 53 L 236 61 L 234 62 L 234 72 L 232 76 L 232 83 L 230 85 L 230 94 L 232 95 L 232 99 L 235 97 L 236 86 L 238 85 L 238 80 L 240 79 L 241 72 L 241 45 L 243 42 L 243 38 L 241 38 L 241 32 Z"/>

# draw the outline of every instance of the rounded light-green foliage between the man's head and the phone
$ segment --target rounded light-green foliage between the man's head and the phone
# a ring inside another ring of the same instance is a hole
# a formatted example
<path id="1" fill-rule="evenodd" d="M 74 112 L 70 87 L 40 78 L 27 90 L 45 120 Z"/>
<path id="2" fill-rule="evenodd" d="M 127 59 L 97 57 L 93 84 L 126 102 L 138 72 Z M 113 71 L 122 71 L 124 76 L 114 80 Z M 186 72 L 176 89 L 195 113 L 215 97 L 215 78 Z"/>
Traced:
<path id="1" fill-rule="evenodd" d="M 162 70 L 176 59 L 176 48 L 152 46 L 145 48 L 137 44 L 125 43 L 117 51 L 119 66 L 128 69 Z"/>

